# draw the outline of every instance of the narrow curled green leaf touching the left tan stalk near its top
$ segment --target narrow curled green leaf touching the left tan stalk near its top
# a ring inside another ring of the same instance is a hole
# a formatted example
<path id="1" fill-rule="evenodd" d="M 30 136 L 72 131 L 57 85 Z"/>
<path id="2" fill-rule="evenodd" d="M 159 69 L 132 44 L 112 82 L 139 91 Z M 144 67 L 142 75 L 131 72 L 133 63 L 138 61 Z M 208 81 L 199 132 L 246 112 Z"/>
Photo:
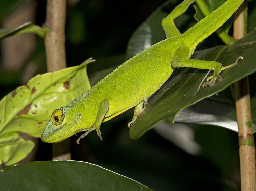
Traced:
<path id="1" fill-rule="evenodd" d="M 44 38 L 45 34 L 49 31 L 51 31 L 51 29 L 47 27 L 39 27 L 31 22 L 26 22 L 14 29 L 0 29 L 0 39 L 23 33 L 35 33 L 41 38 Z"/>

